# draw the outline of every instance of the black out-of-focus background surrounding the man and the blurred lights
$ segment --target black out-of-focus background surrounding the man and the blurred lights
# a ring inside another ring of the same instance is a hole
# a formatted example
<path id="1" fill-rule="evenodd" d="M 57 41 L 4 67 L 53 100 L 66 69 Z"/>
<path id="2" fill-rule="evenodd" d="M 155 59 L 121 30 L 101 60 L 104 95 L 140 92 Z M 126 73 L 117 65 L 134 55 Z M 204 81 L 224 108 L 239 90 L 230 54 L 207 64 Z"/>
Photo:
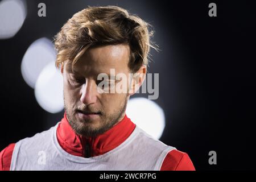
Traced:
<path id="1" fill-rule="evenodd" d="M 38 4 L 46 3 L 46 17 Z M 208 5 L 217 4 L 217 17 Z M 27 1 L 27 18 L 13 38 L 0 40 L 0 150 L 47 130 L 63 117 L 36 102 L 20 63 L 36 39 L 53 36 L 88 5 L 118 5 L 154 26 L 166 128 L 160 140 L 191 157 L 197 170 L 255 169 L 255 8 L 253 1 Z M 1 25 L 0 25 L 1 26 Z M 138 95 L 139 96 L 139 95 Z M 137 96 L 135 96 L 137 97 Z M 217 152 L 209 165 L 208 152 Z"/>

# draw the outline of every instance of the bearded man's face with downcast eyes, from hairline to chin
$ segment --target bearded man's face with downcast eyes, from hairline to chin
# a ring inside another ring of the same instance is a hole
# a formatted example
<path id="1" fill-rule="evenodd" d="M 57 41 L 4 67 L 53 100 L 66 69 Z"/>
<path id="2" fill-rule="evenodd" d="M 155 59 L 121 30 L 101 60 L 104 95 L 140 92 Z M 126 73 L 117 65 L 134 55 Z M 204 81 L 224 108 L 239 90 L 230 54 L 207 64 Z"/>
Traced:
<path id="1" fill-rule="evenodd" d="M 97 80 L 100 73 L 129 74 L 128 45 L 118 44 L 88 49 L 73 65 L 66 61 L 63 72 L 64 104 L 67 118 L 77 134 L 92 137 L 102 134 L 120 121 L 126 110 L 129 94 L 100 93 Z M 118 80 L 109 80 L 118 84 Z"/>

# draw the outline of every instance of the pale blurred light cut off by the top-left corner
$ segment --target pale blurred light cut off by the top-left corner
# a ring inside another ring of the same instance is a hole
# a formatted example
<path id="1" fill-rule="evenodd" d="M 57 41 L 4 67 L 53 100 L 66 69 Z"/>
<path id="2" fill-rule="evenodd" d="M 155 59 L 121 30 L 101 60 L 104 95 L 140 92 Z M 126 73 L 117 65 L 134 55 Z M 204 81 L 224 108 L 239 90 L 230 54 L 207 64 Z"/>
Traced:
<path id="1" fill-rule="evenodd" d="M 0 2 L 0 39 L 12 38 L 26 18 L 26 2 L 3 0 Z"/>

